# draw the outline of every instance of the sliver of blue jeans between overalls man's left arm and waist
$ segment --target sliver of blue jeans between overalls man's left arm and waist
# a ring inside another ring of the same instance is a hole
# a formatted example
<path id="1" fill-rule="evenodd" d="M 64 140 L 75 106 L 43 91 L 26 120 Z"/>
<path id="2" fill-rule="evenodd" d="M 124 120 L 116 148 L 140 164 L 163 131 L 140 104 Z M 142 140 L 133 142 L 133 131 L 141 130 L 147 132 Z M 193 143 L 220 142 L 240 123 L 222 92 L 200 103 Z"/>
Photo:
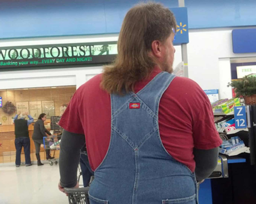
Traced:
<path id="1" fill-rule="evenodd" d="M 83 176 L 83 186 L 87 187 L 89 185 L 91 176 L 94 175 L 94 173 L 90 167 L 90 164 L 89 164 L 87 153 L 81 152 L 80 166 L 81 166 L 81 171 L 82 171 L 82 176 Z"/>

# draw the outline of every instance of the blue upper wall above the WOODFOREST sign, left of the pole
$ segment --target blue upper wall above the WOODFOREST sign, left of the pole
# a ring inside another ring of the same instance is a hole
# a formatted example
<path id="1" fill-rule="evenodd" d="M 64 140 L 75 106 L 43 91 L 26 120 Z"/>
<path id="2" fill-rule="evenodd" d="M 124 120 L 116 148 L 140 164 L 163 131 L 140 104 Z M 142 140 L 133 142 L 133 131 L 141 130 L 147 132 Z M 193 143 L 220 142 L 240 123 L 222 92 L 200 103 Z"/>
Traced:
<path id="1" fill-rule="evenodd" d="M 0 0 L 0 39 L 118 33 L 138 0 Z M 159 0 L 178 7 L 177 0 Z"/>

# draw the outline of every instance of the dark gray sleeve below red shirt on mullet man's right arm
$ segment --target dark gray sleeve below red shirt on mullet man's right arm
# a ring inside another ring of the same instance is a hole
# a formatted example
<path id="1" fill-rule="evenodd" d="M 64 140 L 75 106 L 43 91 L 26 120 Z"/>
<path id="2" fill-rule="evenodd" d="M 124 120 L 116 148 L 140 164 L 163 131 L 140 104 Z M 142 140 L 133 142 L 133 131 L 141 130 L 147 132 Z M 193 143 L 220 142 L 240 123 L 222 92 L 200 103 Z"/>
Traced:
<path id="1" fill-rule="evenodd" d="M 197 182 L 206 179 L 216 168 L 219 148 L 199 150 L 194 148 L 195 178 Z"/>

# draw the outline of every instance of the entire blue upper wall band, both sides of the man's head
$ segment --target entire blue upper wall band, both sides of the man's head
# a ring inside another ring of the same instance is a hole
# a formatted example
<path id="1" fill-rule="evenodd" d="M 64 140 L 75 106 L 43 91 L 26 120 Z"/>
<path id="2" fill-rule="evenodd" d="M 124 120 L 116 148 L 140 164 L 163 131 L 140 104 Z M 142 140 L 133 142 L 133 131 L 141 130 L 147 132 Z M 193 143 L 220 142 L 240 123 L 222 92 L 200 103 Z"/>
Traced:
<path id="1" fill-rule="evenodd" d="M 178 0 L 155 0 L 178 7 Z M 139 0 L 0 0 L 0 39 L 118 33 Z M 189 28 L 255 26 L 256 0 L 185 0 Z"/>

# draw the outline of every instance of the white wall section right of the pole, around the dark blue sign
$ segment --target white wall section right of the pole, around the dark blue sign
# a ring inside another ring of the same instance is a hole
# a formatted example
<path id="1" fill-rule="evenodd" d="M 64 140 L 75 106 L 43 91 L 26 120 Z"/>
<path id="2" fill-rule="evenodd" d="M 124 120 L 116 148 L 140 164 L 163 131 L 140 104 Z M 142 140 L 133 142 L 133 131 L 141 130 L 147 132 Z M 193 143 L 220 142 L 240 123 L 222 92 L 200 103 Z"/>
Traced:
<path id="1" fill-rule="evenodd" d="M 231 88 L 227 90 L 227 83 L 231 82 L 230 63 L 227 60 L 256 56 L 256 53 L 233 53 L 233 29 L 235 28 L 189 31 L 189 78 L 203 89 L 219 89 L 222 98 L 232 96 Z M 219 63 L 222 58 L 226 58 L 226 63 Z"/>

